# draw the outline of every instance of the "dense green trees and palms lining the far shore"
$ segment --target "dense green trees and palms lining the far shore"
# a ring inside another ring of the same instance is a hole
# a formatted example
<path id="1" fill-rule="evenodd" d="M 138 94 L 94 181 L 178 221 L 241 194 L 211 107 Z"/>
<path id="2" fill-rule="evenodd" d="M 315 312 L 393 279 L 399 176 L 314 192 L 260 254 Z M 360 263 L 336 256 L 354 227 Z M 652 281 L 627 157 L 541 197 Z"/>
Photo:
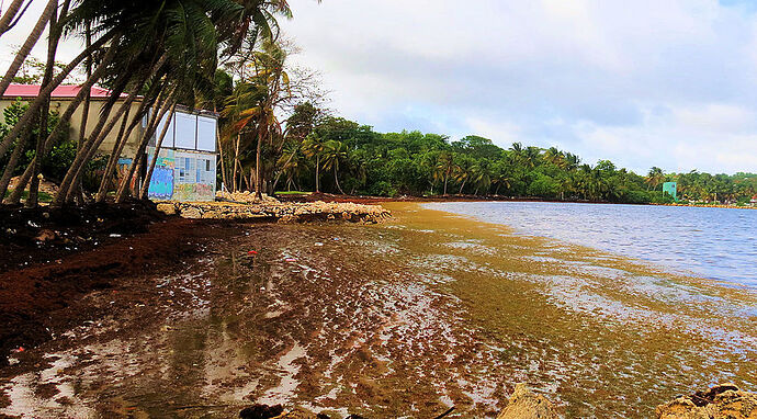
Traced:
<path id="1" fill-rule="evenodd" d="M 302 112 L 302 109 L 301 109 Z M 294 118 L 302 118 L 295 111 Z M 677 181 L 679 199 L 746 203 L 757 193 L 757 174 L 664 173 L 653 168 L 639 175 L 609 160 L 596 165 L 556 148 L 508 149 L 490 139 L 448 137 L 419 132 L 382 134 L 339 117 L 314 123 L 304 140 L 286 138 L 279 168 L 285 189 L 370 195 L 473 194 L 586 200 L 617 203 L 667 203 L 665 181 Z"/>

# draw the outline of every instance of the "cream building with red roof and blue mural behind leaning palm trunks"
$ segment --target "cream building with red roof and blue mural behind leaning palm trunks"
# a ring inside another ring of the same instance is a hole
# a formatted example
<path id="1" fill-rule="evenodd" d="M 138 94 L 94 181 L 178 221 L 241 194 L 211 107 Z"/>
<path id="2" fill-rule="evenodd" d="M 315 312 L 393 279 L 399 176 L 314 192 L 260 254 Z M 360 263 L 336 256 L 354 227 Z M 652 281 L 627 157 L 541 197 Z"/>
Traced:
<path id="1" fill-rule="evenodd" d="M 50 111 L 63 113 L 68 103 L 77 94 L 80 87 L 60 86 L 53 91 Z M 31 100 L 39 93 L 39 86 L 11 84 L 2 98 L 0 98 L 0 111 L 8 107 L 16 100 Z M 88 124 L 86 134 L 89 135 L 94 129 L 106 100 L 111 92 L 106 89 L 93 87 L 91 89 L 91 104 L 88 113 Z M 118 101 L 126 99 L 122 94 Z M 135 100 L 129 109 L 129 114 L 134 115 L 139 107 L 140 100 Z M 117 106 L 117 104 L 116 104 Z M 83 105 L 80 105 L 71 116 L 69 138 L 76 139 L 80 136 L 81 122 L 83 118 Z M 118 173 L 124 173 L 135 158 L 147 158 L 151 161 L 155 155 L 156 137 L 160 135 L 166 126 L 168 115 L 160 123 L 152 136 L 145 156 L 135 156 L 139 139 L 144 134 L 146 121 L 135 128 L 128 136 L 126 145 L 118 156 Z M 172 201 L 213 201 L 216 190 L 216 162 L 217 162 L 217 118 L 212 112 L 196 111 L 185 107 L 177 107 L 152 172 L 149 185 L 149 196 L 154 200 Z M 120 126 L 120 120 L 115 126 Z M 113 129 L 104 138 L 98 154 L 110 155 L 113 152 L 118 129 Z M 147 165 L 143 165 L 146 168 Z M 139 184 L 146 170 L 138 173 L 133 180 L 134 184 Z"/>

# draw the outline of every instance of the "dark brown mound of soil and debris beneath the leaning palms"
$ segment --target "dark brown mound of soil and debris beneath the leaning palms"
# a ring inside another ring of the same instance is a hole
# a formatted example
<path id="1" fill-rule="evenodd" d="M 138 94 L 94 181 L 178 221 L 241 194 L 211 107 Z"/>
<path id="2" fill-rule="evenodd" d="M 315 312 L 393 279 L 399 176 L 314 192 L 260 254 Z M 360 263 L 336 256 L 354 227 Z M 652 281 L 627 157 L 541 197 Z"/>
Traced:
<path id="1" fill-rule="evenodd" d="M 229 227 L 167 217 L 155 205 L 0 212 L 0 365 L 56 332 L 97 319 L 92 292 L 128 301 L 148 275 L 170 271 Z M 228 226 L 228 225 L 227 225 Z"/>

